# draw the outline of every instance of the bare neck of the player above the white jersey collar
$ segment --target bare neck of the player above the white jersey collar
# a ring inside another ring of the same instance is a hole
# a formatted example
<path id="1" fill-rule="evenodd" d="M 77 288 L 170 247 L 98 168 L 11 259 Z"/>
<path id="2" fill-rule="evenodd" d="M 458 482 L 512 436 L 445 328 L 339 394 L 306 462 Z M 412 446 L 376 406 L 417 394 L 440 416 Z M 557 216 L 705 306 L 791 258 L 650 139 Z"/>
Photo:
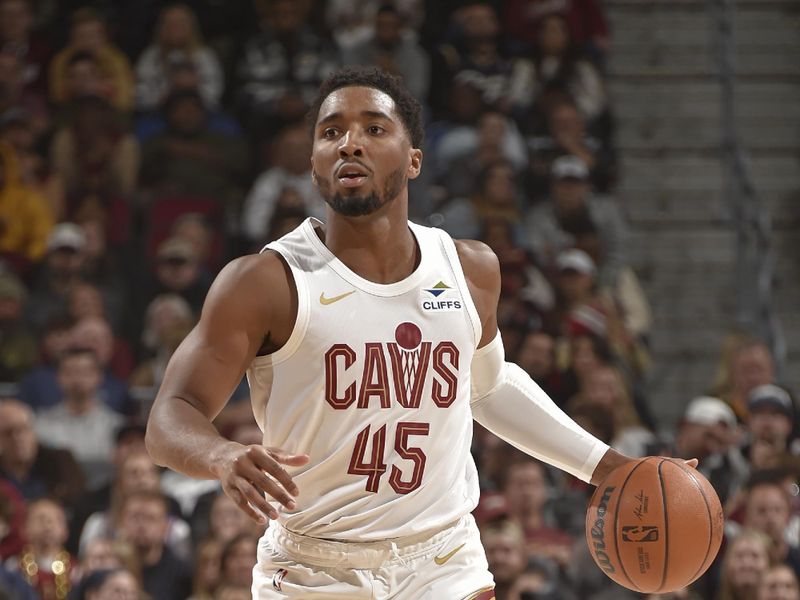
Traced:
<path id="1" fill-rule="evenodd" d="M 408 228 L 408 209 L 401 198 L 365 217 L 328 211 L 319 231 L 322 241 L 351 271 L 375 283 L 388 284 L 411 275 L 419 261 L 417 242 Z"/>

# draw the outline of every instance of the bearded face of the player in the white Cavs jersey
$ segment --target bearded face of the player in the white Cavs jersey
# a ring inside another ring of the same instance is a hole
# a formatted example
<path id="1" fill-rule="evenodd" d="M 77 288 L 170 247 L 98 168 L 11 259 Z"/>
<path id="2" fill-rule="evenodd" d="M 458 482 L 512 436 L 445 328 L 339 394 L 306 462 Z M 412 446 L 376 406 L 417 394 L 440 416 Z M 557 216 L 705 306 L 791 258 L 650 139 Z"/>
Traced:
<path id="1" fill-rule="evenodd" d="M 422 152 L 411 147 L 387 94 L 346 87 L 322 103 L 311 164 L 320 194 L 337 213 L 358 217 L 380 210 L 407 193 L 421 162 Z"/>

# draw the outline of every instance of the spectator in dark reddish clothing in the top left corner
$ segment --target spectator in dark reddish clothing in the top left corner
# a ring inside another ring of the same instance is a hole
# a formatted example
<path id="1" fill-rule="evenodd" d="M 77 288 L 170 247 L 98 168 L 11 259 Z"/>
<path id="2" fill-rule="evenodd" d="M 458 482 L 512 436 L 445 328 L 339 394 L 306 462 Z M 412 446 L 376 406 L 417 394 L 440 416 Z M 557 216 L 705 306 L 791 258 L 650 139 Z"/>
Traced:
<path id="1" fill-rule="evenodd" d="M 50 48 L 44 36 L 34 31 L 31 5 L 26 0 L 3 0 L 0 3 L 0 52 L 13 54 L 22 63 L 25 88 L 43 94 L 46 88 L 45 66 Z"/>

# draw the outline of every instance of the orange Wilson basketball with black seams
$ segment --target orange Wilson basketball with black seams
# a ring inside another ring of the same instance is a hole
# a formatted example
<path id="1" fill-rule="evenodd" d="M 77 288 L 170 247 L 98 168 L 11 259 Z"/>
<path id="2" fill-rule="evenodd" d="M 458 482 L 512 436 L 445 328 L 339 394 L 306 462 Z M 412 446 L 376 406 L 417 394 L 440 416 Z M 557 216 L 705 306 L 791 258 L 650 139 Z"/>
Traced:
<path id="1" fill-rule="evenodd" d="M 586 541 L 597 566 L 621 586 L 672 592 L 711 565 L 723 520 L 703 475 L 682 460 L 650 456 L 600 483 L 586 513 Z"/>

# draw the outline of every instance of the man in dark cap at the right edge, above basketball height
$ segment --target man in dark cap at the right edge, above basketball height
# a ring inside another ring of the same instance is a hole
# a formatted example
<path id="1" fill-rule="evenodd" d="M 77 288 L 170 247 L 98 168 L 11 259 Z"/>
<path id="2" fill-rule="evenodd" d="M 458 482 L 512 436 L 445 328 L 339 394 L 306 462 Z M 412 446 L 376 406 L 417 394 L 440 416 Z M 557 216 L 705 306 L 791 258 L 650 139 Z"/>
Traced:
<path id="1" fill-rule="evenodd" d="M 743 452 L 754 467 L 767 467 L 783 454 L 800 454 L 792 444 L 794 403 L 789 393 L 771 383 L 760 385 L 747 397 L 750 418 Z"/>

